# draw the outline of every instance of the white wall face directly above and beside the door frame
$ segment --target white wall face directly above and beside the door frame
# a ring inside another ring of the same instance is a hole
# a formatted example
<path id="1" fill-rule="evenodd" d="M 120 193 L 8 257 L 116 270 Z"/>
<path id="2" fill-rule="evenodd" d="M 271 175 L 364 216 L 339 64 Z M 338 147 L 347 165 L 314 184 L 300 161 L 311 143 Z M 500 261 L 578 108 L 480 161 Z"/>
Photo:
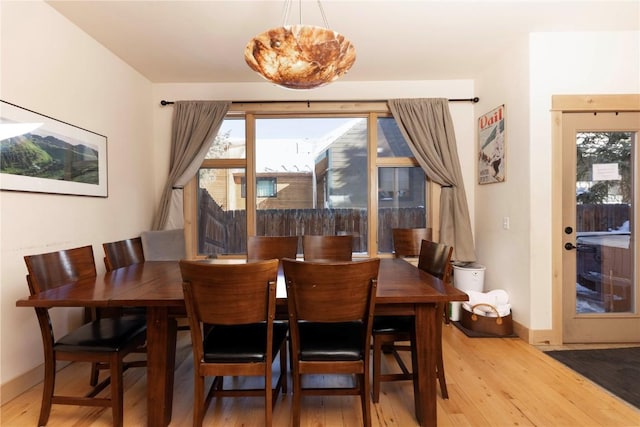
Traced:
<path id="1" fill-rule="evenodd" d="M 551 96 L 640 93 L 640 32 L 530 36 L 531 328 L 551 328 Z"/>

